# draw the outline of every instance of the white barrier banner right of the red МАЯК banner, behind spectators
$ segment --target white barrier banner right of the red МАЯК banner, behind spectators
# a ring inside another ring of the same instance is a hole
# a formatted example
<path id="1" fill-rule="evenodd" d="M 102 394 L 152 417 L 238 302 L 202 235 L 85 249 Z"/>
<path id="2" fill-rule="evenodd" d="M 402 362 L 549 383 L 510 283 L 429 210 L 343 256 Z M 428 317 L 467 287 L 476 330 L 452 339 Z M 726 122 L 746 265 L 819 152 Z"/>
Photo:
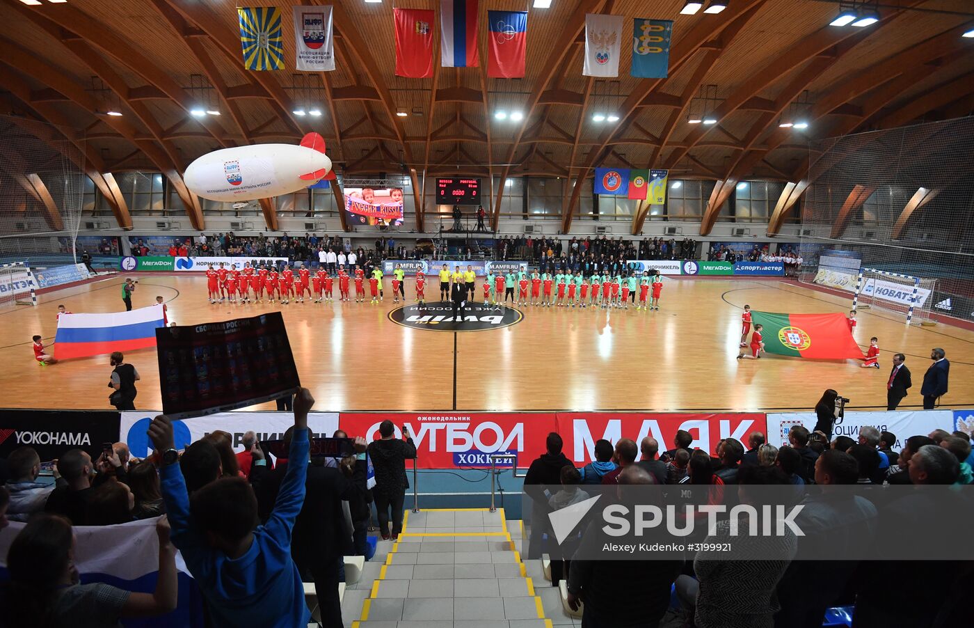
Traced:
<path id="1" fill-rule="evenodd" d="M 768 443 L 775 447 L 788 444 L 788 430 L 804 425 L 810 432 L 815 429 L 815 412 L 788 412 L 768 414 Z M 871 425 L 880 432 L 892 432 L 896 436 L 894 450 L 903 449 L 903 443 L 911 436 L 926 436 L 935 429 L 951 431 L 954 412 L 950 410 L 920 410 L 904 412 L 845 412 L 837 423 L 832 438 L 847 436 L 853 441 L 859 438 L 859 429 Z"/>

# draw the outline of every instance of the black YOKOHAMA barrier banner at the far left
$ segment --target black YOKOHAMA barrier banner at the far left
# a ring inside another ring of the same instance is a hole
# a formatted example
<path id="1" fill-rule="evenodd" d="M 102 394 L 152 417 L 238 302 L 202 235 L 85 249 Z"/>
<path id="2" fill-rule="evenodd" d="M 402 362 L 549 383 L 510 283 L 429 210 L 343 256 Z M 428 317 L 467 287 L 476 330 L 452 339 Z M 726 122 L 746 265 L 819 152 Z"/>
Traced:
<path id="1" fill-rule="evenodd" d="M 55 460 L 65 451 L 101 454 L 102 443 L 119 440 L 119 413 L 94 411 L 0 410 L 0 457 L 29 446 L 42 462 Z"/>

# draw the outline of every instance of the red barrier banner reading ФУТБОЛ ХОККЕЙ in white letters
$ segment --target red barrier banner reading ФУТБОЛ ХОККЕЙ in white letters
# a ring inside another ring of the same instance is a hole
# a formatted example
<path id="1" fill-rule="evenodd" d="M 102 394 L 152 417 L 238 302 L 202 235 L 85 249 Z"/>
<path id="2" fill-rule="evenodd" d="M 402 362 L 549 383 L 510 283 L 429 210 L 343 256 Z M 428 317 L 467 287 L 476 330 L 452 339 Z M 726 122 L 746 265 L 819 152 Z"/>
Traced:
<path id="1" fill-rule="evenodd" d="M 379 424 L 389 419 L 395 438 L 405 426 L 416 445 L 421 469 L 453 469 L 483 466 L 485 454 L 517 454 L 517 466 L 526 468 L 544 452 L 544 439 L 555 431 L 553 413 L 349 413 L 338 424 L 349 436 L 379 438 Z"/>

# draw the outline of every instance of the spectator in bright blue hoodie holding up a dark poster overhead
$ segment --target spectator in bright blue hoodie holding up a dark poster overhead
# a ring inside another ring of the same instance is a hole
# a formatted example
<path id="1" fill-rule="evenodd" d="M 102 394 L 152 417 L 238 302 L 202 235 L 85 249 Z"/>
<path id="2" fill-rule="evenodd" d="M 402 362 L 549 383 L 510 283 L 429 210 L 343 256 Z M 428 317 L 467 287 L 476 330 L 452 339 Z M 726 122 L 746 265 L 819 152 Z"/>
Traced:
<path id="1" fill-rule="evenodd" d="M 291 560 L 291 530 L 301 512 L 308 472 L 307 388 L 294 397 L 294 432 L 287 473 L 267 523 L 257 525 L 257 498 L 241 477 L 220 478 L 187 495 L 172 441 L 172 423 L 149 426 L 163 452 L 162 491 L 172 542 L 196 579 L 213 626 L 306 626 L 310 618 L 301 575 Z"/>

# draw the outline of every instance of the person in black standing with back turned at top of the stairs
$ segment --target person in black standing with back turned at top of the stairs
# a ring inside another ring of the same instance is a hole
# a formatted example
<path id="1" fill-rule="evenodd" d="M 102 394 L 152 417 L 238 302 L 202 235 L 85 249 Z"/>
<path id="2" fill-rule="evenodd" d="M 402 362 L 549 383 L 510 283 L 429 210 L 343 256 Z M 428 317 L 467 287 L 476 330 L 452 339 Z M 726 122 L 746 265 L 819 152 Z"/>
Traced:
<path id="1" fill-rule="evenodd" d="M 409 488 L 406 459 L 416 457 L 416 446 L 405 425 L 402 426 L 402 439 L 395 438 L 395 426 L 389 419 L 379 424 L 379 437 L 368 446 L 368 455 L 375 469 L 372 497 L 379 513 L 379 533 L 383 540 L 390 538 L 389 511 L 392 508 L 392 538 L 396 540 L 402 531 L 402 503 Z"/>

